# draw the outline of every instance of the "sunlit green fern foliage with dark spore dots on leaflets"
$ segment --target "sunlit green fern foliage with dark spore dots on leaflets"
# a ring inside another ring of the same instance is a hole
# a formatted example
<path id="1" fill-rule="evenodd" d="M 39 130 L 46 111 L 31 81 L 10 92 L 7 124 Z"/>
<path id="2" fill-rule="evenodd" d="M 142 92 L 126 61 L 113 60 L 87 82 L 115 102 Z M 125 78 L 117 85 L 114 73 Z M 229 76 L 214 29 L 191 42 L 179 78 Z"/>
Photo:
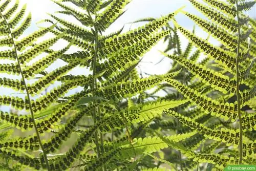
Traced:
<path id="1" fill-rule="evenodd" d="M 10 108 L 1 109 L 0 169 L 204 170 L 253 164 L 256 22 L 243 11 L 255 2 L 189 2 L 207 19 L 182 7 L 136 20 L 146 24 L 134 30 L 105 35 L 129 0 L 53 1 L 62 9 L 57 13 L 80 25 L 49 14 L 42 22 L 51 26 L 24 36 L 32 17 L 25 16 L 26 5 L 17 11 L 18 1 L 4 1 L 0 46 L 7 50 L 0 60 L 9 62 L 0 65 L 0 85 L 26 95 L 0 96 L 1 106 Z M 183 28 L 178 13 L 209 36 Z M 48 33 L 51 38 L 36 41 Z M 179 33 L 189 40 L 185 48 Z M 210 36 L 222 46 L 212 45 Z M 68 44 L 53 50 L 59 40 Z M 137 66 L 161 40 L 167 41 L 161 53 L 173 60 L 172 67 L 143 78 Z M 68 53 L 72 47 L 80 50 Z M 206 58 L 199 61 L 201 53 Z M 65 65 L 47 72 L 60 60 Z M 90 72 L 69 74 L 77 67 Z"/>

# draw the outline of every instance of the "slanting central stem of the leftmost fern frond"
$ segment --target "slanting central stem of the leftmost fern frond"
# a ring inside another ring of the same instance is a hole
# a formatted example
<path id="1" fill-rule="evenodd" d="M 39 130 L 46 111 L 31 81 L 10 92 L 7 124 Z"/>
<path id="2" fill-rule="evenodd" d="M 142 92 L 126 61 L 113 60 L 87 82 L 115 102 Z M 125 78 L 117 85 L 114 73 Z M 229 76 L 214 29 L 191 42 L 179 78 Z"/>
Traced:
<path id="1" fill-rule="evenodd" d="M 50 165 L 49 165 L 49 163 L 48 163 L 47 154 L 46 154 L 46 151 L 45 151 L 44 146 L 42 145 L 42 142 L 41 142 L 41 139 L 40 139 L 40 135 L 39 135 L 39 132 L 38 132 L 37 127 L 36 127 L 35 118 L 34 118 L 34 113 L 33 113 L 32 105 L 31 105 L 31 101 L 30 101 L 30 96 L 29 96 L 27 84 L 26 84 L 26 81 L 25 81 L 25 77 L 24 77 L 24 75 L 23 75 L 22 67 L 20 66 L 20 62 L 19 62 L 19 59 L 18 59 L 17 48 L 16 48 L 16 45 L 15 45 L 15 42 L 14 42 L 14 38 L 13 38 L 13 35 L 12 35 L 12 32 L 11 32 L 11 28 L 10 28 L 10 25 L 9 25 L 7 19 L 5 18 L 5 16 L 2 14 L 1 11 L 0 11 L 0 15 L 4 18 L 5 23 L 6 23 L 7 26 L 8 26 L 8 30 L 9 30 L 9 32 L 10 32 L 11 38 L 12 38 L 12 43 L 13 43 L 14 50 L 15 50 L 15 56 L 16 56 L 16 58 L 17 58 L 18 68 L 19 68 L 19 70 L 20 70 L 20 74 L 22 75 L 22 79 L 23 79 L 23 82 L 24 82 L 24 87 L 25 87 L 25 90 L 26 90 L 26 93 L 27 93 L 27 97 L 28 97 L 29 110 L 30 110 L 30 113 L 31 113 L 31 118 L 32 118 L 32 120 L 33 120 L 33 125 L 34 125 L 34 127 L 35 127 L 36 136 L 37 136 L 37 139 L 38 139 L 38 143 L 39 143 L 39 145 L 40 145 L 40 147 L 41 147 L 41 150 L 42 150 L 42 153 L 43 153 L 45 162 L 46 162 L 47 169 L 50 171 L 51 169 L 50 169 Z M 25 101 L 26 101 L 26 100 L 25 100 Z"/>

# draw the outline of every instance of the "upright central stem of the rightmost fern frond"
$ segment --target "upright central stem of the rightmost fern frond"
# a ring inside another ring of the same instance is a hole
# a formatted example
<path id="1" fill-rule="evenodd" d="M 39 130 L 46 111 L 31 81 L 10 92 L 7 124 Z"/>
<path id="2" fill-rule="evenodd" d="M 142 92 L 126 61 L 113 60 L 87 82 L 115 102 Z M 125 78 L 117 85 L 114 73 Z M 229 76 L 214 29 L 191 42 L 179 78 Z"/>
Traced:
<path id="1" fill-rule="evenodd" d="M 239 74 L 239 49 L 240 49 L 240 25 L 239 25 L 239 10 L 238 10 L 238 1 L 236 1 L 237 6 L 237 17 L 238 17 L 238 47 L 237 47 L 237 56 L 236 56 L 236 75 L 237 75 L 237 102 L 238 102 L 238 118 L 239 118 L 239 164 L 242 164 L 243 161 L 243 129 L 242 129 L 242 116 L 241 116 L 241 102 L 240 102 L 240 74 Z"/>

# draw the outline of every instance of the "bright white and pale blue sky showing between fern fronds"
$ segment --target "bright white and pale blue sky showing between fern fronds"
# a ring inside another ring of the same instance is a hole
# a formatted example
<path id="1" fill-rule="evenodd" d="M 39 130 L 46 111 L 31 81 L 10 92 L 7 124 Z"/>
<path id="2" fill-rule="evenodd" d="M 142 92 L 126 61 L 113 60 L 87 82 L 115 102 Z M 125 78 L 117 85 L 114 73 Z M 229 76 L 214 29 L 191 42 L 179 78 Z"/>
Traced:
<path id="1" fill-rule="evenodd" d="M 0 4 L 2 4 L 3 1 L 0 1 Z M 200 1 L 201 2 L 201 1 Z M 29 27 L 29 29 L 26 30 L 25 34 L 23 35 L 26 36 L 29 33 L 38 30 L 38 27 L 45 27 L 46 25 L 44 24 L 36 24 L 39 22 L 41 19 L 45 18 L 50 18 L 47 13 L 53 14 L 55 11 L 60 10 L 59 6 L 54 4 L 50 0 L 20 0 L 20 4 L 24 5 L 27 4 L 27 12 L 32 13 L 32 24 Z M 124 26 L 123 31 L 127 31 L 130 28 L 135 29 L 136 27 L 143 25 L 145 23 L 141 24 L 129 24 L 137 19 L 141 19 L 144 17 L 161 17 L 163 15 L 166 15 L 168 13 L 174 12 L 178 8 L 185 6 L 184 11 L 199 15 L 202 18 L 205 18 L 200 12 L 198 12 L 189 2 L 188 0 L 133 0 L 127 7 L 126 7 L 126 12 L 116 20 L 116 22 L 111 25 L 109 29 L 106 30 L 106 33 L 111 33 L 114 31 L 119 30 Z M 252 10 L 247 12 L 248 15 L 251 17 L 256 18 L 256 5 Z M 69 20 L 69 22 L 77 23 L 72 17 L 65 17 L 65 19 Z M 176 16 L 177 22 L 185 27 L 186 29 L 192 31 L 194 23 L 189 20 L 187 17 L 185 17 L 183 14 L 178 14 Z M 202 38 L 207 37 L 207 33 L 205 33 L 202 29 L 199 27 L 196 27 L 196 34 Z M 181 45 L 184 49 L 186 47 L 188 40 L 182 36 L 181 34 Z M 51 37 L 51 35 L 46 35 L 42 39 L 46 39 Z M 39 39 L 41 41 L 42 39 Z M 220 45 L 217 40 L 210 38 L 210 42 L 214 45 Z M 66 46 L 68 42 L 64 40 L 60 40 L 57 42 L 56 45 L 52 49 L 61 49 L 63 46 Z M 160 41 L 152 50 L 148 53 L 145 54 L 143 60 L 139 64 L 140 70 L 142 70 L 145 73 L 148 74 L 164 74 L 166 71 L 170 69 L 172 61 L 168 58 L 164 58 L 160 63 L 158 63 L 163 56 L 159 53 L 158 50 L 163 51 L 165 49 L 165 45 L 163 44 L 162 41 Z M 68 52 L 74 52 L 76 49 L 71 48 L 70 51 Z M 43 57 L 42 55 L 41 57 Z M 203 57 L 203 56 L 202 56 Z M 8 61 L 2 60 L 0 61 L 1 63 L 6 63 Z M 156 63 L 158 63 L 156 65 Z M 52 71 L 56 67 L 60 67 L 65 65 L 65 62 L 58 60 L 56 61 L 53 65 L 51 65 L 47 71 Z M 139 70 L 139 71 L 140 71 Z M 88 72 L 88 70 L 82 69 L 82 68 L 76 68 L 72 70 L 69 74 L 77 75 L 80 74 L 81 72 Z M 0 77 L 7 76 L 6 74 L 0 74 Z M 145 74 L 144 74 L 145 76 Z M 13 76 L 12 78 L 20 78 L 19 76 Z M 58 85 L 58 83 L 56 84 Z M 77 90 L 73 90 L 75 92 Z M 0 87 L 0 95 L 11 95 L 11 96 L 18 96 L 18 97 L 25 97 L 25 94 L 13 94 L 15 91 L 8 89 L 8 88 L 1 88 Z M 37 98 L 37 97 L 34 97 Z M 7 108 L 4 108 L 3 106 L 1 107 L 1 110 L 7 110 Z"/>

